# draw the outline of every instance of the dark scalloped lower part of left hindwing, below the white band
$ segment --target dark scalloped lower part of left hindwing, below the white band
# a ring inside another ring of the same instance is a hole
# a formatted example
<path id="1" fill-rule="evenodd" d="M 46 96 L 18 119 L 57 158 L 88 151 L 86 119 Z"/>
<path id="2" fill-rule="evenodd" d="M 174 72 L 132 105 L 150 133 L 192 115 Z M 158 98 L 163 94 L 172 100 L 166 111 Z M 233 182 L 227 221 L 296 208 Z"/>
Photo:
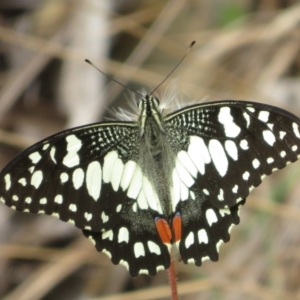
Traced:
<path id="1" fill-rule="evenodd" d="M 136 203 L 124 205 L 118 223 L 106 232 L 84 230 L 98 251 L 105 252 L 114 264 L 124 265 L 131 276 L 154 276 L 170 265 L 170 244 L 163 244 L 155 226 L 155 212 L 139 209 Z"/>

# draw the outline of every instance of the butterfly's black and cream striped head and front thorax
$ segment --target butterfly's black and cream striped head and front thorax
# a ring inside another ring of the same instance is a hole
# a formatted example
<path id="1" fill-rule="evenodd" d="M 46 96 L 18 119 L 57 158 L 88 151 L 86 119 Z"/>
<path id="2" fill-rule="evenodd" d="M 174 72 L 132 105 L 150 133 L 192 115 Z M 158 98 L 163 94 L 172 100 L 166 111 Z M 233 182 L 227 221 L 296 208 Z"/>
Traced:
<path id="1" fill-rule="evenodd" d="M 140 124 L 140 136 L 142 137 L 145 132 L 145 126 L 148 120 L 154 120 L 162 132 L 165 132 L 162 113 L 159 109 L 159 99 L 152 95 L 146 95 L 138 103 L 140 110 L 139 124 Z"/>

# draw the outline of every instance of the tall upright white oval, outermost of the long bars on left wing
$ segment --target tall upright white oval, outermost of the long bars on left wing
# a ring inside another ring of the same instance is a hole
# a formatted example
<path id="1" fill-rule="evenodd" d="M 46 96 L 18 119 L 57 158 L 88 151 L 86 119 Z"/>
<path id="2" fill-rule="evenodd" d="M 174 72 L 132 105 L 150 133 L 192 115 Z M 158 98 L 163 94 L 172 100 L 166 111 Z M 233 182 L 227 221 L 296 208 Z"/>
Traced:
<path id="1" fill-rule="evenodd" d="M 98 161 L 93 161 L 88 165 L 85 183 L 89 195 L 97 201 L 100 197 L 102 186 L 102 170 Z"/>

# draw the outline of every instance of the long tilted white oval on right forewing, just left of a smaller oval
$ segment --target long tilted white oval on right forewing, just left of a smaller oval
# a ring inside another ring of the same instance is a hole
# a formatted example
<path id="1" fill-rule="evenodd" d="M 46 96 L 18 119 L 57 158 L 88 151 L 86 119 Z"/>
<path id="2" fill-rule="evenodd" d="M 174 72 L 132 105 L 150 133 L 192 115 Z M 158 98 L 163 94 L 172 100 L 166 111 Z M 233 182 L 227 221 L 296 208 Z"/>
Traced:
<path id="1" fill-rule="evenodd" d="M 209 152 L 220 176 L 225 176 L 228 170 L 228 160 L 224 148 L 218 140 L 209 141 Z"/>

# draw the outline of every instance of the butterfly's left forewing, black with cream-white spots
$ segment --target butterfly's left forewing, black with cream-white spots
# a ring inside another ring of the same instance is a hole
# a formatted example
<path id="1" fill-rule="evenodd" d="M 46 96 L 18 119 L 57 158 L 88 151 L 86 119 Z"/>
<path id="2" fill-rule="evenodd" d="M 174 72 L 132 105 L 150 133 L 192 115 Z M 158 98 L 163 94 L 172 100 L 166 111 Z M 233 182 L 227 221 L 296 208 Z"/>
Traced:
<path id="1" fill-rule="evenodd" d="M 135 126 L 117 123 L 54 135 L 4 168 L 1 200 L 19 211 L 54 215 L 82 229 L 104 231 L 116 223 L 114 216 L 127 202 L 126 194 L 112 188 L 113 170 L 106 155 L 113 150 L 122 164 L 135 159 L 136 138 Z"/>

